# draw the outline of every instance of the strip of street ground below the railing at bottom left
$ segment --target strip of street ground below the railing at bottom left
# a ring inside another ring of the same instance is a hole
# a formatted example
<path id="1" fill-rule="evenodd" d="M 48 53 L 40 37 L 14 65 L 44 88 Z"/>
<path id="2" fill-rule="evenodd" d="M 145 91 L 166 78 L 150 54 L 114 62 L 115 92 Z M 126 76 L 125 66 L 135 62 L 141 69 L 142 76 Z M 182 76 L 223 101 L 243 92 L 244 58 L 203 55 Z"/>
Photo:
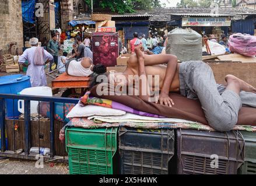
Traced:
<path id="1" fill-rule="evenodd" d="M 0 174 L 69 174 L 68 164 L 44 163 L 44 168 L 36 168 L 36 162 L 0 160 Z"/>

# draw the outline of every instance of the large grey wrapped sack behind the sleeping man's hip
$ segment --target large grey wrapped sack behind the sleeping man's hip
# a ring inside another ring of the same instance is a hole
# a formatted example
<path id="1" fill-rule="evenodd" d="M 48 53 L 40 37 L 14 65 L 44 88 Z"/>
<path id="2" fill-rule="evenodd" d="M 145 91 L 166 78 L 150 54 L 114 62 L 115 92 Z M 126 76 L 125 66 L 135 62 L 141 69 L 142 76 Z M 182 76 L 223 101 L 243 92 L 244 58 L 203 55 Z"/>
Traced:
<path id="1" fill-rule="evenodd" d="M 166 53 L 176 55 L 181 62 L 202 60 L 202 35 L 191 28 L 176 28 L 168 33 Z"/>

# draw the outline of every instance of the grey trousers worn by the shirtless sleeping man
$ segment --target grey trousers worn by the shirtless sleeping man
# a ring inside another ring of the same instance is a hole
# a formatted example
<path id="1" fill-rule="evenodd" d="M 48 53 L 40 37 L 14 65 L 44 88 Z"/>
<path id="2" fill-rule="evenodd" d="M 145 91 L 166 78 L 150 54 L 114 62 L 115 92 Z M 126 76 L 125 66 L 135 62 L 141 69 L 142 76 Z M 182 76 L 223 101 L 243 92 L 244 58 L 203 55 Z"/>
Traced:
<path id="1" fill-rule="evenodd" d="M 180 92 L 190 99 L 199 99 L 209 125 L 217 131 L 229 131 L 237 124 L 239 110 L 256 108 L 256 94 L 241 91 L 240 95 L 216 84 L 212 69 L 201 61 L 180 64 Z"/>

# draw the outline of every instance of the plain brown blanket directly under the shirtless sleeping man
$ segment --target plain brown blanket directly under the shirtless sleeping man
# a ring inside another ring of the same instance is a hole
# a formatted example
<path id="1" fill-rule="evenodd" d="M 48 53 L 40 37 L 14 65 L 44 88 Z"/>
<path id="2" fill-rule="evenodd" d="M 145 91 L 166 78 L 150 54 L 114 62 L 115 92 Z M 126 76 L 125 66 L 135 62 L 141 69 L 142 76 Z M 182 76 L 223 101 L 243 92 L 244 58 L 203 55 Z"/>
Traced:
<path id="1" fill-rule="evenodd" d="M 185 98 L 180 94 L 172 93 L 170 98 L 173 99 L 175 105 L 173 107 L 163 106 L 153 102 L 143 101 L 138 96 L 111 95 L 97 95 L 97 85 L 91 90 L 91 95 L 103 99 L 110 99 L 114 102 L 122 103 L 130 108 L 141 110 L 141 112 L 148 112 L 159 116 L 172 117 L 178 119 L 185 119 L 196 121 L 202 124 L 208 124 L 205 119 L 204 111 L 201 108 L 199 100 Z M 110 89 L 108 89 L 110 90 Z M 239 112 L 239 120 L 237 124 L 244 126 L 256 126 L 256 109 L 243 107 Z"/>

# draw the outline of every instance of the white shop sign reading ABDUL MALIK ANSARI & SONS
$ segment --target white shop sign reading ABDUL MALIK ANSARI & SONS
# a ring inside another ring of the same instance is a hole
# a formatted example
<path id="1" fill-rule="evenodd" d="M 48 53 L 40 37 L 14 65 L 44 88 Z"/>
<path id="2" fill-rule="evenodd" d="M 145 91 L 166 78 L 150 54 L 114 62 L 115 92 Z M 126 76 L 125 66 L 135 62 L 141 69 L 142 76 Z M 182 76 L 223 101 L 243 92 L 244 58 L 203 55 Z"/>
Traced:
<path id="1" fill-rule="evenodd" d="M 229 27 L 231 17 L 183 17 L 183 27 Z"/>

